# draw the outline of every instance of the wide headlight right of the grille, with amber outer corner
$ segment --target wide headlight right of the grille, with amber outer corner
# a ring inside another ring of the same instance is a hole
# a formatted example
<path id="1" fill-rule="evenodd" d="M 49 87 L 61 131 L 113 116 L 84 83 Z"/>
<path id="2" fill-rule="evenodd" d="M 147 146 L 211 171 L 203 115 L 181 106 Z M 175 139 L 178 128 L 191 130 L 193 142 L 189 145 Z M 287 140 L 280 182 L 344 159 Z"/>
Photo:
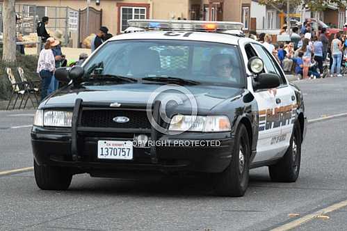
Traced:
<path id="1" fill-rule="evenodd" d="M 227 132 L 231 130 L 227 116 L 176 115 L 170 122 L 170 131 L 177 132 Z"/>

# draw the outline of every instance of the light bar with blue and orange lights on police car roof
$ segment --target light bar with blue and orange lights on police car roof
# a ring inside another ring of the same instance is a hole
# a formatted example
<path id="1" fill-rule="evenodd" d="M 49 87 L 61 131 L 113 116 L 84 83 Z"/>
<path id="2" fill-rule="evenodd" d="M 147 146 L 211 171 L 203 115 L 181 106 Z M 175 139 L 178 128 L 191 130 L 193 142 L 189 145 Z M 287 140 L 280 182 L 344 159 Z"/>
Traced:
<path id="1" fill-rule="evenodd" d="M 143 29 L 181 30 L 181 31 L 241 31 L 241 22 L 214 22 L 191 20 L 130 19 L 129 26 Z"/>

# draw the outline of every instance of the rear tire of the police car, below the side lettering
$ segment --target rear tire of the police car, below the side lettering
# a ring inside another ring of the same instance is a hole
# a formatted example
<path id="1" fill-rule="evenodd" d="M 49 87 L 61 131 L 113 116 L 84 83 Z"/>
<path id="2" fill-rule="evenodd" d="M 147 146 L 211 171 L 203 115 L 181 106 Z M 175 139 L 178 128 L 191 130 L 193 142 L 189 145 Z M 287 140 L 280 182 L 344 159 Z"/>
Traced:
<path id="1" fill-rule="evenodd" d="M 296 182 L 300 172 L 301 132 L 298 123 L 294 125 L 293 134 L 287 152 L 277 162 L 268 167 L 273 182 Z"/>

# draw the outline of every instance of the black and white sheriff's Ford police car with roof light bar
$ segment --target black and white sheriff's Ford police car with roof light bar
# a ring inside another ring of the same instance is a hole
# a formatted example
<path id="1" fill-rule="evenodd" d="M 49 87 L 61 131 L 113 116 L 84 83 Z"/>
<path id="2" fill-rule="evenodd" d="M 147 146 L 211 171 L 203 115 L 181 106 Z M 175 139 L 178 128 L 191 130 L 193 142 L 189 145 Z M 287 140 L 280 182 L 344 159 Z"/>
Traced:
<path id="1" fill-rule="evenodd" d="M 35 113 L 40 189 L 72 176 L 209 173 L 222 196 L 243 196 L 250 168 L 295 182 L 307 119 L 300 90 L 237 22 L 130 20 Z"/>

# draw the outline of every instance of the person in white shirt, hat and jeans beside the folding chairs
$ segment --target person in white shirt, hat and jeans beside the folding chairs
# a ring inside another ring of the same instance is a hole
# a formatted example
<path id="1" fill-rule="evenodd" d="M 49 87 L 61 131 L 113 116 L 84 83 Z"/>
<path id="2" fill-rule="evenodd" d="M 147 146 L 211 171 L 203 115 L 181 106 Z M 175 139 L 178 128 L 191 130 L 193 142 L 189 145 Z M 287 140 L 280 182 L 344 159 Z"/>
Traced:
<path id="1" fill-rule="evenodd" d="M 56 60 L 54 59 L 53 51 L 51 47 L 54 47 L 56 40 L 54 38 L 47 38 L 45 43 L 45 49 L 40 51 L 38 58 L 38 69 L 37 72 L 41 77 L 41 100 L 45 99 L 48 95 L 49 83 L 56 70 Z"/>

